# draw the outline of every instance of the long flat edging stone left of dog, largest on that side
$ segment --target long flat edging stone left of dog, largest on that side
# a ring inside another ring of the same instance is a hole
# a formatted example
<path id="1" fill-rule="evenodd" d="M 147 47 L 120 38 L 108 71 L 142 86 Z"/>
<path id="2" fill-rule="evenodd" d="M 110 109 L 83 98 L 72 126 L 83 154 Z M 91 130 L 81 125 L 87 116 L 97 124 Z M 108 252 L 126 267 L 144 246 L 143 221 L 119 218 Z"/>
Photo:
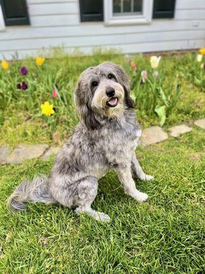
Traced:
<path id="1" fill-rule="evenodd" d="M 5 160 L 8 164 L 20 164 L 24 160 L 40 157 L 49 145 L 18 145 Z"/>

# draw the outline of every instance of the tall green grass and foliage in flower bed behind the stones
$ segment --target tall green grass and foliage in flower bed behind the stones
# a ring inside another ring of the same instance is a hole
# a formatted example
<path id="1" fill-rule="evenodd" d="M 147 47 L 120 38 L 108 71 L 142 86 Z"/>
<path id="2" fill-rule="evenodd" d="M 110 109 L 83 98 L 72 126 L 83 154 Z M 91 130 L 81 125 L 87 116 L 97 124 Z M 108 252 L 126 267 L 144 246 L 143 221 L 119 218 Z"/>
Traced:
<path id="1" fill-rule="evenodd" d="M 158 71 L 167 99 L 172 101 L 176 82 L 181 86 L 180 98 L 167 114 L 164 125 L 166 128 L 205 116 L 205 73 L 196 62 L 196 54 L 168 54 L 163 55 L 161 59 Z M 110 60 L 121 64 L 132 80 L 136 77 L 131 69 L 131 60 L 134 60 L 138 66 L 137 82 L 140 81 L 141 71 L 148 70 L 148 77 L 153 73 L 150 69 L 150 57 L 143 55 L 127 57 L 110 50 L 96 51 L 94 55 L 87 57 L 72 57 L 64 55 L 61 51 L 51 56 L 52 58 L 47 58 L 42 66 L 37 66 L 35 60 L 28 58 L 12 61 L 10 69 L 6 71 L 0 69 L 0 145 L 9 144 L 15 147 L 20 142 L 51 143 L 54 131 L 59 132 L 63 140 L 68 137 L 78 121 L 74 112 L 74 86 L 80 73 L 89 66 Z M 20 75 L 20 66 L 27 66 L 28 75 Z M 23 81 L 28 82 L 29 88 L 18 90 L 16 84 Z M 54 84 L 57 84 L 59 89 L 60 97 L 57 99 L 52 97 Z M 141 99 L 136 101 L 136 112 L 142 127 L 159 125 L 159 117 L 153 110 L 152 100 L 149 100 L 148 111 L 141 107 L 142 99 L 148 102 L 149 96 L 150 90 L 144 88 Z M 44 101 L 53 103 L 55 107 L 55 114 L 49 119 L 41 114 L 40 105 Z M 162 103 L 159 95 L 156 103 Z"/>

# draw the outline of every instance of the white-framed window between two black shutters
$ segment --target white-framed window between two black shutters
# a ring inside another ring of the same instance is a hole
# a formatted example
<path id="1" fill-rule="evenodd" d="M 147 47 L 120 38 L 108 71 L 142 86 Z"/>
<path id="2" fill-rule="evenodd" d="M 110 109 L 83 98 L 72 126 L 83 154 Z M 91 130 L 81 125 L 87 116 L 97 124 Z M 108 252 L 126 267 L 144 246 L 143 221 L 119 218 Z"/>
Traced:
<path id="1" fill-rule="evenodd" d="M 152 2 L 152 0 L 105 0 L 105 23 L 107 25 L 150 23 Z"/>

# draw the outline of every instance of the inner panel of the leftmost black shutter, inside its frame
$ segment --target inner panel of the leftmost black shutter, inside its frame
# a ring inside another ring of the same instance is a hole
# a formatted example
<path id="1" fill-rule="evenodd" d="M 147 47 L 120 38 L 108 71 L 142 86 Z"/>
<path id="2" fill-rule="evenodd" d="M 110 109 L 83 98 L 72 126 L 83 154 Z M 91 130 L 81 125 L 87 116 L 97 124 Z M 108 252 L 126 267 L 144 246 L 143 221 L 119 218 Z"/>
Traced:
<path id="1" fill-rule="evenodd" d="M 3 3 L 7 18 L 18 18 L 25 16 L 22 0 L 6 0 Z"/>

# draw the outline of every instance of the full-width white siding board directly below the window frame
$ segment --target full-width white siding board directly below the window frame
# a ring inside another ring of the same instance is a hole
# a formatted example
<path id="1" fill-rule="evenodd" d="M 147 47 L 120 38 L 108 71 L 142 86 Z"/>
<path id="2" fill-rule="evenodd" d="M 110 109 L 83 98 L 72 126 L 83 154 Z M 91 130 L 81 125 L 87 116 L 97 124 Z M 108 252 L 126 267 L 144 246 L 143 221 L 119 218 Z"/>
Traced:
<path id="1" fill-rule="evenodd" d="M 152 27 L 150 25 L 130 25 L 130 26 L 111 26 L 104 27 L 101 23 L 92 23 L 87 25 L 72 25 L 72 26 L 62 26 L 62 27 L 18 27 L 20 32 L 16 32 L 16 28 L 10 27 L 7 32 L 1 33 L 1 40 L 19 40 L 19 39 L 39 39 L 39 38 L 55 38 L 55 37 L 75 37 L 75 36 L 96 36 L 96 34 L 105 35 L 115 35 L 115 34 L 141 34 L 152 32 L 181 32 L 184 30 L 205 30 L 205 20 L 197 20 L 199 27 L 193 27 L 192 21 L 172 21 L 172 29 L 170 28 L 170 21 L 154 20 L 152 22 Z"/>

